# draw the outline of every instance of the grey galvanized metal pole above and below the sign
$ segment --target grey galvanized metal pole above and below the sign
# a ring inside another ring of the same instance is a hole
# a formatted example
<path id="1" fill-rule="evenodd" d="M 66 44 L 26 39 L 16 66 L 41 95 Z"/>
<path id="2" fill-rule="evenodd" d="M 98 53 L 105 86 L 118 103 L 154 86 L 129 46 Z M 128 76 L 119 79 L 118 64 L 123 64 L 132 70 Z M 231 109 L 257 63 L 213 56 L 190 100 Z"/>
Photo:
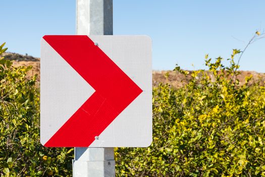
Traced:
<path id="1" fill-rule="evenodd" d="M 113 0 L 76 0 L 76 33 L 113 35 Z M 76 147 L 73 176 L 115 176 L 114 148 Z"/>

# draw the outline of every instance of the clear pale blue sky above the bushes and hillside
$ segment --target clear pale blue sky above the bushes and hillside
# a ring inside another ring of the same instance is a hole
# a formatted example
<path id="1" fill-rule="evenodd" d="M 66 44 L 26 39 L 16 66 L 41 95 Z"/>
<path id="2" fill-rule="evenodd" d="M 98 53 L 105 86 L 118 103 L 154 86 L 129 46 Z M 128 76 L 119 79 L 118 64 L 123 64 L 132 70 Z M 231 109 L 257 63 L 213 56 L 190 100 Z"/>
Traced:
<path id="1" fill-rule="evenodd" d="M 43 35 L 75 34 L 75 0 L 0 1 L 0 43 L 9 52 L 39 57 Z M 114 35 L 152 38 L 154 70 L 205 69 L 205 54 L 228 58 L 265 28 L 263 0 L 113 0 L 113 6 Z M 249 46 L 240 65 L 265 72 L 265 38 Z"/>

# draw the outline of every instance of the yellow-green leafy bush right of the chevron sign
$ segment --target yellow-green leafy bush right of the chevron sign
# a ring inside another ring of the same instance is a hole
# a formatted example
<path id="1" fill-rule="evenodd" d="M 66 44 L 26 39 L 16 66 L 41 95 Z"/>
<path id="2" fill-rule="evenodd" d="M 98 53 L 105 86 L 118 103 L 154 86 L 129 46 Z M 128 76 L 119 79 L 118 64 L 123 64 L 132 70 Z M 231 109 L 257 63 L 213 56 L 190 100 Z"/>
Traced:
<path id="1" fill-rule="evenodd" d="M 153 143 L 116 149 L 118 176 L 265 176 L 265 88 L 205 56 L 184 87 L 153 89 Z M 184 75 L 179 66 L 176 72 Z"/>

